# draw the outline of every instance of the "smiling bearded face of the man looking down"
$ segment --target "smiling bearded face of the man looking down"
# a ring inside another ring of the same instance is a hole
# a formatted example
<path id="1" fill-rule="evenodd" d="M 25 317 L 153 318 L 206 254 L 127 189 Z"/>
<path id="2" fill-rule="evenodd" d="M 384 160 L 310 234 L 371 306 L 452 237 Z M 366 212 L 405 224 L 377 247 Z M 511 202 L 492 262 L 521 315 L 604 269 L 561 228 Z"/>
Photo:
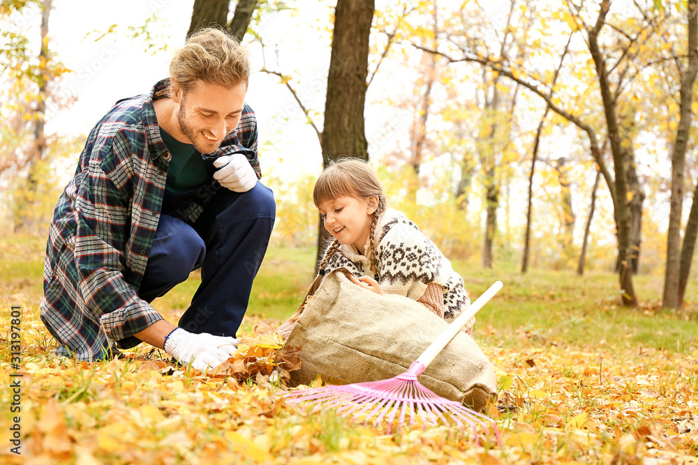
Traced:
<path id="1" fill-rule="evenodd" d="M 179 104 L 179 127 L 196 150 L 215 151 L 223 138 L 237 128 L 246 91 L 245 82 L 228 87 L 197 81 L 186 93 L 174 93 L 172 100 Z"/>

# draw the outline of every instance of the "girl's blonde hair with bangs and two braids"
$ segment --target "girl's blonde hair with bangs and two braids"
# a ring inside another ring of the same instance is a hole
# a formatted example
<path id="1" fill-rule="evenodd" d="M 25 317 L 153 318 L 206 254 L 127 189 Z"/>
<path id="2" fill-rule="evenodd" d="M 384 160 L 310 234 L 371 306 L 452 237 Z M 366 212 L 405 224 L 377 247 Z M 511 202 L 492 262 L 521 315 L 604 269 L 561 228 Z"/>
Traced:
<path id="1" fill-rule="evenodd" d="M 322 202 L 341 197 L 369 199 L 374 196 L 378 197 L 378 206 L 376 206 L 376 211 L 373 212 L 373 221 L 371 221 L 368 259 L 371 264 L 371 271 L 373 271 L 374 275 L 376 275 L 376 280 L 378 280 L 376 225 L 378 224 L 378 216 L 385 211 L 386 205 L 385 194 L 383 193 L 383 188 L 380 187 L 378 176 L 364 160 L 341 158 L 332 162 L 331 165 L 322 171 L 318 181 L 315 181 L 315 189 L 313 190 L 313 202 L 315 202 L 315 206 L 318 208 Z M 334 239 L 332 244 L 327 247 L 325 258 L 320 263 L 320 273 L 325 273 L 325 267 L 329 263 L 329 259 L 334 256 L 340 245 L 339 241 Z M 363 252 L 363 250 L 360 252 Z"/>

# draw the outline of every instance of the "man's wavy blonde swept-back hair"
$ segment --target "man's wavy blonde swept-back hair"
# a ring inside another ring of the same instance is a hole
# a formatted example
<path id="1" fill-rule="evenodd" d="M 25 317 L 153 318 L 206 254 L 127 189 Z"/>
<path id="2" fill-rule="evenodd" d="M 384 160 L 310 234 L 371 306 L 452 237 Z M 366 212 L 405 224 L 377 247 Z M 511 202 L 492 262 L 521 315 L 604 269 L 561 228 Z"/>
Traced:
<path id="1" fill-rule="evenodd" d="M 249 52 L 238 40 L 217 27 L 192 33 L 170 61 L 172 89 L 186 93 L 195 82 L 233 87 L 249 83 Z"/>

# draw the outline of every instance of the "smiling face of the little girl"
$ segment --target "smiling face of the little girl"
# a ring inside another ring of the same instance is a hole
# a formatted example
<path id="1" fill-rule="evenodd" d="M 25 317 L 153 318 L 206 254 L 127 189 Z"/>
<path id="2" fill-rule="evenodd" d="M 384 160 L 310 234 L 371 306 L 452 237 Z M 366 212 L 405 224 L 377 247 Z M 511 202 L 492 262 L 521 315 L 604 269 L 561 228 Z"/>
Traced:
<path id="1" fill-rule="evenodd" d="M 353 244 L 360 253 L 369 240 L 373 212 L 378 206 L 378 197 L 356 199 L 339 197 L 326 200 L 318 206 L 325 229 L 342 245 Z"/>

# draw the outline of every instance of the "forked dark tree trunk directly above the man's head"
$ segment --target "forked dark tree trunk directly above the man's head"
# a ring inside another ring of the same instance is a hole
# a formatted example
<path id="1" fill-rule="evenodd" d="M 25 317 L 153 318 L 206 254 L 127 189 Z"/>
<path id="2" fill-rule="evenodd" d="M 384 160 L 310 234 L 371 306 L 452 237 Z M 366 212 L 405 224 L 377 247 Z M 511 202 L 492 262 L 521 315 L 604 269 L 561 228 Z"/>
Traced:
<path id="1" fill-rule="evenodd" d="M 257 0 L 239 0 L 235 6 L 235 14 L 228 24 L 230 0 L 194 0 L 191 24 L 189 24 L 186 35 L 188 36 L 202 27 L 218 24 L 218 26 L 228 29 L 230 35 L 242 42 L 255 8 L 257 8 Z"/>

